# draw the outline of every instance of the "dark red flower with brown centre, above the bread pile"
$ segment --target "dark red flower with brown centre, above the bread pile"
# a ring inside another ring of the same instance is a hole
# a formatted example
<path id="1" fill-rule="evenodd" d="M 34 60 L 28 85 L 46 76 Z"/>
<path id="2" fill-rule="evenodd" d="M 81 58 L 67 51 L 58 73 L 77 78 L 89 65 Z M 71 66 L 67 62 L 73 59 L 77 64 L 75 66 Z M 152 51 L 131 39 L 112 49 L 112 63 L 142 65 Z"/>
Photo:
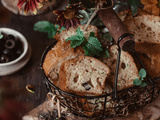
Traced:
<path id="1" fill-rule="evenodd" d="M 54 14 L 58 15 L 56 24 L 66 27 L 75 27 L 77 24 L 80 24 L 80 20 L 83 19 L 83 16 L 79 13 L 79 10 L 82 10 L 83 7 L 81 3 L 73 4 L 66 7 L 65 10 L 55 10 Z"/>

